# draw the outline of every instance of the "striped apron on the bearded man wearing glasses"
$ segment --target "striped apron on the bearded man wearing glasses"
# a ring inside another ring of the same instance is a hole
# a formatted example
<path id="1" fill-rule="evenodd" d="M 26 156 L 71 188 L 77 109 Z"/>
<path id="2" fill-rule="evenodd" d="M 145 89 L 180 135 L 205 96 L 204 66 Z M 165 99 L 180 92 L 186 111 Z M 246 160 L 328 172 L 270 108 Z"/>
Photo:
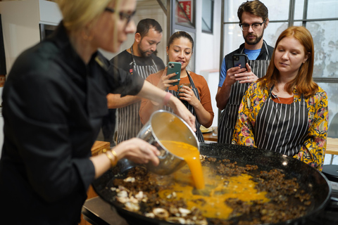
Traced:
<path id="1" fill-rule="evenodd" d="M 267 57 L 268 58 L 268 57 Z M 270 60 L 249 60 L 251 71 L 258 78 L 265 76 Z M 240 84 L 238 81 L 232 84 L 229 101 L 220 115 L 218 122 L 218 143 L 231 143 L 234 134 L 234 125 L 237 122 L 239 105 L 251 83 Z"/>

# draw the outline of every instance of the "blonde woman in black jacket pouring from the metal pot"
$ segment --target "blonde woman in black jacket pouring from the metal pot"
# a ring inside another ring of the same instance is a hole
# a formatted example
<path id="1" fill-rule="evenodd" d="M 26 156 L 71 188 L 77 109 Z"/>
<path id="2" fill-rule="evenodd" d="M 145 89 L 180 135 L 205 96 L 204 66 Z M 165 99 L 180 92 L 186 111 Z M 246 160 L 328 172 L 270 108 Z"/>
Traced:
<path id="1" fill-rule="evenodd" d="M 118 160 L 158 164 L 158 150 L 141 139 L 91 157 L 108 93 L 165 103 L 194 129 L 180 100 L 118 71 L 97 51 L 116 52 L 135 32 L 136 0 L 58 5 L 58 29 L 18 57 L 4 87 L 1 219 L 10 224 L 77 224 L 89 184 Z"/>

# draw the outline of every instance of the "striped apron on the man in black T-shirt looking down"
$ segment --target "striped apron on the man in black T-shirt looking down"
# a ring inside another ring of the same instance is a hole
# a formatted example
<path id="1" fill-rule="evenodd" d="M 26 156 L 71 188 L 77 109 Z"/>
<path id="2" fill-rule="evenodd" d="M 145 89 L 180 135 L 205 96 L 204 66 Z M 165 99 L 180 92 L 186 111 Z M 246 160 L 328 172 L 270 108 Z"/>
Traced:
<path id="1" fill-rule="evenodd" d="M 132 48 L 130 48 L 132 51 Z M 132 53 L 132 70 L 135 74 L 139 75 L 143 79 L 146 79 L 149 75 L 158 72 L 158 68 L 154 59 L 153 65 L 137 65 Z M 139 117 L 139 108 L 141 107 L 141 101 L 132 103 L 123 108 L 118 108 L 118 143 L 121 141 L 129 140 L 137 136 L 139 130 L 142 129 L 143 124 Z"/>

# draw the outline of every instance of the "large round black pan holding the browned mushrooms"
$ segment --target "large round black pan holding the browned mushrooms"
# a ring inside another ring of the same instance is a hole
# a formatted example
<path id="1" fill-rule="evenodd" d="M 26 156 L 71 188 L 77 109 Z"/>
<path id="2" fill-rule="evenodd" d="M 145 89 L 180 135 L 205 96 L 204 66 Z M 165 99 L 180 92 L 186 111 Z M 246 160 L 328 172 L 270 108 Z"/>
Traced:
<path id="1" fill-rule="evenodd" d="M 328 181 L 322 173 L 306 165 L 299 160 L 280 155 L 270 150 L 261 150 L 246 146 L 235 146 L 220 143 L 201 143 L 200 153 L 218 159 L 228 159 L 231 162 L 237 162 L 237 165 L 257 165 L 258 170 L 270 171 L 271 169 L 280 169 L 287 179 L 296 178 L 301 188 L 310 194 L 313 198 L 308 212 L 304 217 L 295 218 L 279 224 L 306 224 L 306 219 L 317 216 L 324 210 L 330 200 L 331 188 Z M 93 186 L 96 193 L 106 202 L 113 205 L 118 214 L 124 217 L 130 224 L 172 224 L 167 221 L 151 219 L 140 214 L 127 211 L 121 207 L 120 203 L 114 200 L 113 192 L 108 190 L 111 182 L 115 178 L 120 178 L 127 169 L 133 165 L 119 162 L 117 167 L 110 169 L 103 176 L 94 181 Z"/>

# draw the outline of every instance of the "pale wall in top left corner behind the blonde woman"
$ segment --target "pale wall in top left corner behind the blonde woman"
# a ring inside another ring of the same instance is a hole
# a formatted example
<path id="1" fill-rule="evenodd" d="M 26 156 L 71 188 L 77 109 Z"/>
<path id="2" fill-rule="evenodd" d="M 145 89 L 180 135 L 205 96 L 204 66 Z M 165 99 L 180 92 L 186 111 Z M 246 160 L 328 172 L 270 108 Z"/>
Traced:
<path id="1" fill-rule="evenodd" d="M 40 41 L 39 23 L 58 25 L 61 12 L 45 0 L 0 1 L 7 74 L 25 49 Z"/>

